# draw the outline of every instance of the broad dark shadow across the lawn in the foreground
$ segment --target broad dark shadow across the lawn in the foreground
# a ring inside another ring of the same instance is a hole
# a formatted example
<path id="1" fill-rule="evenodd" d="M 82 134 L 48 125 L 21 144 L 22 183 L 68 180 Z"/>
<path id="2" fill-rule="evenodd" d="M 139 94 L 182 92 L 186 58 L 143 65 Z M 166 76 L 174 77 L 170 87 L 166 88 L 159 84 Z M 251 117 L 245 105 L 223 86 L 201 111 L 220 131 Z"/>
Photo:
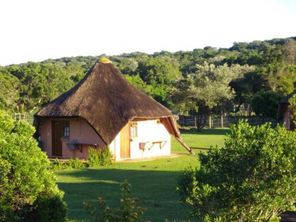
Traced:
<path id="1" fill-rule="evenodd" d="M 144 168 L 144 163 L 143 166 Z M 88 221 L 90 213 L 83 209 L 83 201 L 96 204 L 101 196 L 109 206 L 118 206 L 120 184 L 125 179 L 132 185 L 132 197 L 139 197 L 140 206 L 147 207 L 143 218 L 150 221 L 196 221 L 189 216 L 189 206 L 179 201 L 176 193 L 178 171 L 131 169 L 84 169 L 58 172 L 58 186 L 65 192 L 68 218 Z"/>

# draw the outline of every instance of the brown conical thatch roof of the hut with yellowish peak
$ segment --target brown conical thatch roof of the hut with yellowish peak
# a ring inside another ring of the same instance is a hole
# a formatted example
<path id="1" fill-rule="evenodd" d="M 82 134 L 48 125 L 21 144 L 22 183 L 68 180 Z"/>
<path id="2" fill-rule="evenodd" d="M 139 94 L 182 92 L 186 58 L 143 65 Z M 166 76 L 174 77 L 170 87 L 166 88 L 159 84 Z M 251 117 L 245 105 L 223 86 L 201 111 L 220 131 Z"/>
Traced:
<path id="1" fill-rule="evenodd" d="M 95 63 L 75 87 L 49 102 L 34 117 L 35 122 L 41 118 L 82 117 L 106 144 L 129 120 L 160 118 L 171 134 L 181 138 L 171 112 L 130 84 L 105 58 Z"/>

